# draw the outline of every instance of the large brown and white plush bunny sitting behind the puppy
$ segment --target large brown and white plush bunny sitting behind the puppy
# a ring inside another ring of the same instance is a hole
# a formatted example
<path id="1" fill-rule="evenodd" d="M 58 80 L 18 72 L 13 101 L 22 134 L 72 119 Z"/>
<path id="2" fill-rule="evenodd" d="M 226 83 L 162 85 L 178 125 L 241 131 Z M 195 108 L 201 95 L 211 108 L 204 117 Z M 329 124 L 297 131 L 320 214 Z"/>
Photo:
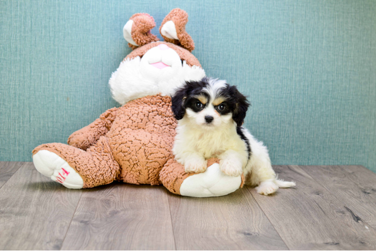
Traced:
<path id="1" fill-rule="evenodd" d="M 36 169 L 67 188 L 80 189 L 121 181 L 164 185 L 184 196 L 211 197 L 234 192 L 244 177 L 231 177 L 208 161 L 204 173 L 185 173 L 172 155 L 176 120 L 171 98 L 185 81 L 205 76 L 191 53 L 195 44 L 185 32 L 187 14 L 172 10 L 159 31 L 165 42 L 151 34 L 154 19 L 133 15 L 123 29 L 133 51 L 110 78 L 111 92 L 123 106 L 104 112 L 73 133 L 68 145 L 51 143 L 33 150 Z"/>

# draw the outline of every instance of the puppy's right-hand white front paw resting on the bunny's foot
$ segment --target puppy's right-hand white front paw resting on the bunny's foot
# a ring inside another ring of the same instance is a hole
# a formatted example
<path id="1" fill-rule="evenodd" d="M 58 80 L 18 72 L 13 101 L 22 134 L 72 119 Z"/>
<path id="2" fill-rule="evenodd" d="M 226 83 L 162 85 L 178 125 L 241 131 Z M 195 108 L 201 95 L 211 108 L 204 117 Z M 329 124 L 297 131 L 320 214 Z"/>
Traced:
<path id="1" fill-rule="evenodd" d="M 242 167 L 247 163 L 247 156 L 234 150 L 227 150 L 219 156 L 219 168 L 229 176 L 242 174 Z"/>

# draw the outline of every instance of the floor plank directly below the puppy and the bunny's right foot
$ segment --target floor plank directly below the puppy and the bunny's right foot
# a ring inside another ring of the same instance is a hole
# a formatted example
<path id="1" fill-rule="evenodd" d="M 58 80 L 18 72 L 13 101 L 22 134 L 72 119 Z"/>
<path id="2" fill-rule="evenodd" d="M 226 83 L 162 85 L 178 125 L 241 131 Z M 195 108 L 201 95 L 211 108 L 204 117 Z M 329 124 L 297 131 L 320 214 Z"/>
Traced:
<path id="1" fill-rule="evenodd" d="M 168 195 L 177 250 L 288 250 L 246 188 L 215 198 Z"/>

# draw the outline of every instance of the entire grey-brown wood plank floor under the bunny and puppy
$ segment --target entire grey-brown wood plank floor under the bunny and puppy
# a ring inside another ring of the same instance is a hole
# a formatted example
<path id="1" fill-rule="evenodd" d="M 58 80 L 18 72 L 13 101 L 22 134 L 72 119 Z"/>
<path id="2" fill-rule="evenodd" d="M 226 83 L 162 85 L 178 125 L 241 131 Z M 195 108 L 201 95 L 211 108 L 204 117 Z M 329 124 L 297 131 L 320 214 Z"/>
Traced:
<path id="1" fill-rule="evenodd" d="M 0 162 L 0 250 L 375 250 L 376 174 L 274 166 L 296 188 L 189 198 L 162 186 L 69 190 Z"/>

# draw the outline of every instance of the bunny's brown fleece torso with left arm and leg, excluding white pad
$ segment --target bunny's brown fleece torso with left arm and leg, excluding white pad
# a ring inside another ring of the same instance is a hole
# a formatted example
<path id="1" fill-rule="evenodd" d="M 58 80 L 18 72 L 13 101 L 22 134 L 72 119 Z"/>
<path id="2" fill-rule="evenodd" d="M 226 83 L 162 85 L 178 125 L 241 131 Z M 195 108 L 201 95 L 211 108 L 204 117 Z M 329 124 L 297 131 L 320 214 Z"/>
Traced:
<path id="1" fill-rule="evenodd" d="M 34 149 L 33 155 L 41 150 L 57 154 L 81 176 L 83 188 L 114 180 L 160 185 L 159 172 L 173 159 L 176 119 L 170 106 L 169 96 L 130 101 L 107 110 L 99 119 L 73 133 L 68 140 L 71 146 L 43 144 Z"/>

